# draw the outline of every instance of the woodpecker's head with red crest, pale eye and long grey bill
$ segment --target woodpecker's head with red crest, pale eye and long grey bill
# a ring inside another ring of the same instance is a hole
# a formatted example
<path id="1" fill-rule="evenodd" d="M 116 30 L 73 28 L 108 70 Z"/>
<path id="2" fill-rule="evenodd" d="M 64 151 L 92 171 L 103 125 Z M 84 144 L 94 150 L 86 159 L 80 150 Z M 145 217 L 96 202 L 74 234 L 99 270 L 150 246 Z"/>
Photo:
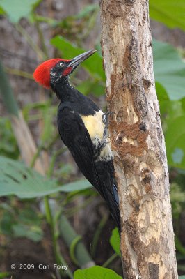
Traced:
<path id="1" fill-rule="evenodd" d="M 36 82 L 45 88 L 54 88 L 56 83 L 63 83 L 68 80 L 68 77 L 79 66 L 79 63 L 88 59 L 95 52 L 96 50 L 89 50 L 71 60 L 61 58 L 49 59 L 35 69 L 33 77 Z"/>

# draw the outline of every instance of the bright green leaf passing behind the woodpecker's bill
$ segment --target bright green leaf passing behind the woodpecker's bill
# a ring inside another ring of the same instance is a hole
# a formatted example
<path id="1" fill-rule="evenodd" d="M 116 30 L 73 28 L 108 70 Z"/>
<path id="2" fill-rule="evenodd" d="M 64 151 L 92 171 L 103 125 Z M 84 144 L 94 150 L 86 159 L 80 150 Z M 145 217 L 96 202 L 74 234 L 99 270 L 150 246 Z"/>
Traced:
<path id="1" fill-rule="evenodd" d="M 72 45 L 72 43 L 70 43 L 68 40 L 65 40 L 65 38 L 62 36 L 56 36 L 52 38 L 51 44 L 54 45 L 58 50 L 61 50 L 63 58 L 65 59 L 72 59 L 74 56 L 86 52 L 86 50 Z M 93 54 L 93 56 L 81 63 L 81 66 L 86 68 L 86 70 L 88 70 L 89 73 L 94 77 L 105 80 L 105 74 L 102 67 L 102 57 L 98 53 Z"/>

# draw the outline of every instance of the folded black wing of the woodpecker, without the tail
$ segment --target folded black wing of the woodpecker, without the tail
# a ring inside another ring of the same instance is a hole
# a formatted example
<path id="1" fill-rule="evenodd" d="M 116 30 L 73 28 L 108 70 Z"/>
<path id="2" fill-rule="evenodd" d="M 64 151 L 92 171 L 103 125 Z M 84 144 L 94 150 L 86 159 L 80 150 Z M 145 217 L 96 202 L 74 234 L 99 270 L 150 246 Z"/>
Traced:
<path id="1" fill-rule="evenodd" d="M 64 107 L 58 112 L 58 130 L 83 175 L 102 195 L 93 160 L 93 144 L 81 116 Z"/>

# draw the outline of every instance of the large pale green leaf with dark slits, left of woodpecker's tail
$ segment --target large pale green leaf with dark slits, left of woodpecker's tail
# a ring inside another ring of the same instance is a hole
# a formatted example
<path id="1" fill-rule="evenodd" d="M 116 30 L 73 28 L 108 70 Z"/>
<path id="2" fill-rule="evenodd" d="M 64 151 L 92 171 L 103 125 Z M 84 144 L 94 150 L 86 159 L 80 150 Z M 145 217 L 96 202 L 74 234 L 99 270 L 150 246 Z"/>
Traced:
<path id="1" fill-rule="evenodd" d="M 92 187 L 86 180 L 58 186 L 56 180 L 46 179 L 16 160 L 0 156 L 0 197 L 17 195 L 20 198 L 42 197 L 57 192 L 72 192 Z"/>

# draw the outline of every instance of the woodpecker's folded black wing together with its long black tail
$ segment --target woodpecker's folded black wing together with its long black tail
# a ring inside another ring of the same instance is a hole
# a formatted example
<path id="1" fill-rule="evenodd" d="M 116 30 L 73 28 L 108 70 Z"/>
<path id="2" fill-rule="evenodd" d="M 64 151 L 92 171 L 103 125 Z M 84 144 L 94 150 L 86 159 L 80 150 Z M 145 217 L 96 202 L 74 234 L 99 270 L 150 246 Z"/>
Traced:
<path id="1" fill-rule="evenodd" d="M 95 150 L 88 130 L 81 116 L 67 107 L 58 113 L 58 130 L 83 175 L 106 200 L 120 231 L 118 193 L 111 177 L 113 162 L 94 162 Z"/>

